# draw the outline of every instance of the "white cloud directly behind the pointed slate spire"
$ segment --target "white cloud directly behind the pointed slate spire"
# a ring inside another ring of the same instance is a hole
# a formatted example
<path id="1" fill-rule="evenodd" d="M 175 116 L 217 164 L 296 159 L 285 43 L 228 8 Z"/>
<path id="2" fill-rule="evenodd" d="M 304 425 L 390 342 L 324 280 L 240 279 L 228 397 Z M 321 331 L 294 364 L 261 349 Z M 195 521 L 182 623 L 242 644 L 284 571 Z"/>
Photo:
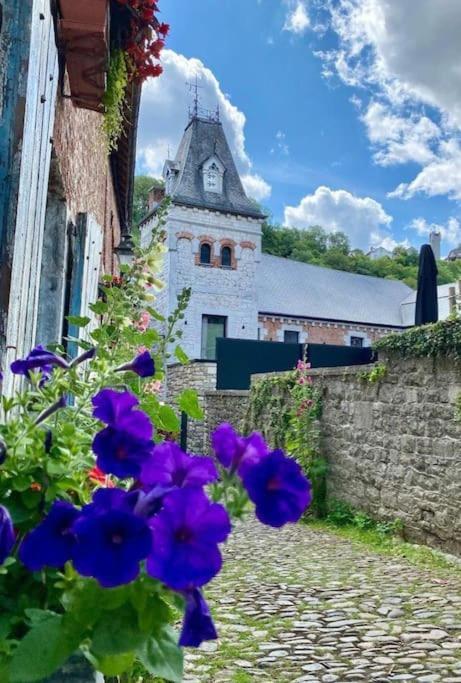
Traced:
<path id="1" fill-rule="evenodd" d="M 252 162 L 245 149 L 245 114 L 222 91 L 213 72 L 199 59 L 188 59 L 173 50 L 162 53 L 164 73 L 147 81 L 143 88 L 138 132 L 138 168 L 159 176 L 168 156 L 173 156 L 187 124 L 188 107 L 192 99 L 186 82 L 198 78 L 202 107 L 216 110 L 234 155 L 237 167 L 245 178 L 245 186 L 254 190 L 254 199 L 266 199 L 271 187 L 253 173 Z M 242 179 L 243 180 L 243 179 Z M 250 190 L 248 190 L 250 191 Z"/>

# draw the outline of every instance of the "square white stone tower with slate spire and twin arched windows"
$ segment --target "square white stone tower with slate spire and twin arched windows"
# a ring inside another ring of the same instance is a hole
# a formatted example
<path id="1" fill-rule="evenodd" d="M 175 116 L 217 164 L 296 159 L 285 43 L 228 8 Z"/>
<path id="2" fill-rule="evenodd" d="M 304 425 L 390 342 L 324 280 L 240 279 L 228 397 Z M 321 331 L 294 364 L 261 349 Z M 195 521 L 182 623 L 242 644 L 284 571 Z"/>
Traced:
<path id="1" fill-rule="evenodd" d="M 181 346 L 191 359 L 214 359 L 218 337 L 257 339 L 264 216 L 245 194 L 218 117 L 191 118 L 163 178 L 172 204 L 161 276 L 166 287 L 157 304 L 167 317 L 190 287 Z M 141 224 L 143 242 L 155 222 L 155 199 Z"/>

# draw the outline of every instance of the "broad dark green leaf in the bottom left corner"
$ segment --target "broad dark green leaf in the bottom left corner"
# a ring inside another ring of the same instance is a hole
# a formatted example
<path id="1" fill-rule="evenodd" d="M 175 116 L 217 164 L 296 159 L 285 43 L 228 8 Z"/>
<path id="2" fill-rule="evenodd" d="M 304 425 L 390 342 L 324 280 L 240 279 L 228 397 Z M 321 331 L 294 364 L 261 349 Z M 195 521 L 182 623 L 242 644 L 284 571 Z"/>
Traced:
<path id="1" fill-rule="evenodd" d="M 50 615 L 35 624 L 19 642 L 10 664 L 11 683 L 32 683 L 50 676 L 77 649 L 81 632 L 65 627 L 63 617 Z"/>

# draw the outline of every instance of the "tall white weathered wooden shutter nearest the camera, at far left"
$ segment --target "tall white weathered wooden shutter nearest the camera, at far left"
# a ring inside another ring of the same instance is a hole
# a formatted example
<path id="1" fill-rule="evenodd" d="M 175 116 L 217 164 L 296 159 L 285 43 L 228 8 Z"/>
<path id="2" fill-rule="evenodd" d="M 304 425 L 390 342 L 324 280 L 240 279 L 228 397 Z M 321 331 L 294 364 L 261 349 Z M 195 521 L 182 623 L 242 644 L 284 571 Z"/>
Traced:
<path id="1" fill-rule="evenodd" d="M 34 0 L 32 14 L 5 366 L 28 353 L 35 339 L 58 83 L 50 0 Z M 13 389 L 10 373 L 3 389 Z"/>

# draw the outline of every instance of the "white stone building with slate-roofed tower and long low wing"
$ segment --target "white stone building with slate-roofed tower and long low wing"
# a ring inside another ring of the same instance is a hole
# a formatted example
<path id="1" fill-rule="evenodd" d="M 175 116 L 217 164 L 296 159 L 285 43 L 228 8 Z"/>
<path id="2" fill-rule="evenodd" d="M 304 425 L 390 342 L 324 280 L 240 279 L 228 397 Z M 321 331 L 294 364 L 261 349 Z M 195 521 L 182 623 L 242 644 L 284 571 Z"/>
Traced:
<path id="1" fill-rule="evenodd" d="M 167 317 L 182 289 L 192 289 L 182 323 L 190 358 L 213 359 L 218 337 L 369 346 L 412 324 L 414 292 L 402 282 L 262 253 L 264 216 L 245 194 L 216 118 L 192 117 L 163 177 L 171 207 L 157 304 Z M 155 188 L 144 241 L 160 200 Z"/>

